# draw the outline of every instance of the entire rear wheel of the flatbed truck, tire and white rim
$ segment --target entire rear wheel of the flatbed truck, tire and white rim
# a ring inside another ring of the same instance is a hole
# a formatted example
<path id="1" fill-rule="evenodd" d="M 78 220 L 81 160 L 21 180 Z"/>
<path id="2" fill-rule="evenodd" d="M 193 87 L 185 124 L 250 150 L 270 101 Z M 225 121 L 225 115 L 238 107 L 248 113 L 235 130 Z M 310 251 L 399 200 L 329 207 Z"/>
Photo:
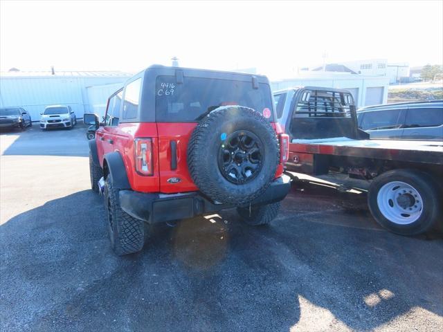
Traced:
<path id="1" fill-rule="evenodd" d="M 368 192 L 374 219 L 391 232 L 417 235 L 439 219 L 441 203 L 435 181 L 412 169 L 394 169 L 377 176 Z"/>

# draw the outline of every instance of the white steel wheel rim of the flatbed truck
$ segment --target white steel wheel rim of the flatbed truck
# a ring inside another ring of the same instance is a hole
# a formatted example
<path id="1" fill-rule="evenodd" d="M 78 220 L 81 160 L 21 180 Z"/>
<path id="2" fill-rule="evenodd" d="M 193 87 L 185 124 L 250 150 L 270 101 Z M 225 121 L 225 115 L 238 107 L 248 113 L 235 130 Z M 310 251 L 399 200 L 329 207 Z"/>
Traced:
<path id="1" fill-rule="evenodd" d="M 419 219 L 423 213 L 422 204 L 419 192 L 401 181 L 386 183 L 377 194 L 381 214 L 398 225 L 408 225 Z"/>

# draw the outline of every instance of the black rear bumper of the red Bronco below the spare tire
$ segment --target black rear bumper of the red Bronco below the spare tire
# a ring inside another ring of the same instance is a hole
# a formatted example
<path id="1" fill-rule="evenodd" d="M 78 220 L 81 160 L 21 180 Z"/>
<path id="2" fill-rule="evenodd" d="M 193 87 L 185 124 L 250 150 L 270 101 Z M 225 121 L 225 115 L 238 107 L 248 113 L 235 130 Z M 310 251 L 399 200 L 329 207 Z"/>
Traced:
<path id="1" fill-rule="evenodd" d="M 251 205 L 275 203 L 284 199 L 291 188 L 290 178 L 283 175 Z M 132 190 L 120 190 L 120 207 L 127 214 L 148 223 L 188 219 L 209 212 L 233 208 L 232 205 L 216 204 L 200 192 L 183 194 L 148 194 Z"/>

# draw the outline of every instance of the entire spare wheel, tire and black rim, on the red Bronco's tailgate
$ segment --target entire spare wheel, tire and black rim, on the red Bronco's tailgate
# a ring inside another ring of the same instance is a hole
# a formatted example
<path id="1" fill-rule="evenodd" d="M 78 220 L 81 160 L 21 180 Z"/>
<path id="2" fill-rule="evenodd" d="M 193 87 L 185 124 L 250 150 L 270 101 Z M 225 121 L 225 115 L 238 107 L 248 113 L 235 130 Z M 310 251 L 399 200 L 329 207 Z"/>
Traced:
<path id="1" fill-rule="evenodd" d="M 248 107 L 219 107 L 192 132 L 188 168 L 194 183 L 220 203 L 244 205 L 275 176 L 280 150 L 269 120 Z"/>

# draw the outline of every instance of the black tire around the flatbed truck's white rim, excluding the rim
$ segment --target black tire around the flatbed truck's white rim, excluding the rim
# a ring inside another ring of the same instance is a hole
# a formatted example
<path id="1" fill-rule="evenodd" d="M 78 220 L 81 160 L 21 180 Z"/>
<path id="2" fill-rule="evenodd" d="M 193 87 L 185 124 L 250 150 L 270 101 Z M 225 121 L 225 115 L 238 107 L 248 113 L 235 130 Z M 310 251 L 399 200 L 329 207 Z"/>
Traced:
<path id="1" fill-rule="evenodd" d="M 377 202 L 377 196 L 381 187 L 395 181 L 411 185 L 422 198 L 421 215 L 416 221 L 406 225 L 387 219 L 381 213 L 379 203 Z M 381 226 L 396 234 L 412 236 L 430 230 L 435 222 L 441 219 L 442 203 L 439 197 L 441 197 L 440 188 L 437 187 L 435 180 L 428 174 L 413 169 L 394 169 L 374 178 L 369 187 L 368 205 L 372 216 Z"/>

